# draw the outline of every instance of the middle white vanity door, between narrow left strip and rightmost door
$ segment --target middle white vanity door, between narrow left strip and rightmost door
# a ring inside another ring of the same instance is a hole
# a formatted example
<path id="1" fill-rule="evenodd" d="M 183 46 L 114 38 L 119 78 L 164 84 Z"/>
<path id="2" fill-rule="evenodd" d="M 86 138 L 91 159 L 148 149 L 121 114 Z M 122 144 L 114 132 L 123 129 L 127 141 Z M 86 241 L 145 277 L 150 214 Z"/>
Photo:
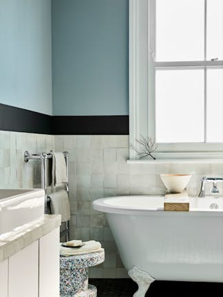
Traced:
<path id="1" fill-rule="evenodd" d="M 9 258 L 8 297 L 38 297 L 39 241 Z"/>

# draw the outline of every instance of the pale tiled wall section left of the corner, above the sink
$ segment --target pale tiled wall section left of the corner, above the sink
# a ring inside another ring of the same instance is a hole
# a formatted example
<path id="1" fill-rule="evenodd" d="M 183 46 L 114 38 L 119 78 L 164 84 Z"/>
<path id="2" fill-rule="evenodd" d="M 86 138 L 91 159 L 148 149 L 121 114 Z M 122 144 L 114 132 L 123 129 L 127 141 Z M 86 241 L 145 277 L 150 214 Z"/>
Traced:
<path id="1" fill-rule="evenodd" d="M 39 188 L 40 163 L 23 162 L 23 154 L 52 148 L 53 135 L 0 131 L 0 188 Z"/>

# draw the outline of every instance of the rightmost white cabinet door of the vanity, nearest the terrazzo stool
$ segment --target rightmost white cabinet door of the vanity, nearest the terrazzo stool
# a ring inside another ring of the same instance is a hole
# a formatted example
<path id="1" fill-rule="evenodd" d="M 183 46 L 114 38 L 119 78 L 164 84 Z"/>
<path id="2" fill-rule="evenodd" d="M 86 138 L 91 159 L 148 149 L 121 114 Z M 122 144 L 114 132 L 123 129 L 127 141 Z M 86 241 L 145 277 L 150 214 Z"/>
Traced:
<path id="1" fill-rule="evenodd" d="M 39 239 L 39 297 L 60 296 L 60 229 Z"/>

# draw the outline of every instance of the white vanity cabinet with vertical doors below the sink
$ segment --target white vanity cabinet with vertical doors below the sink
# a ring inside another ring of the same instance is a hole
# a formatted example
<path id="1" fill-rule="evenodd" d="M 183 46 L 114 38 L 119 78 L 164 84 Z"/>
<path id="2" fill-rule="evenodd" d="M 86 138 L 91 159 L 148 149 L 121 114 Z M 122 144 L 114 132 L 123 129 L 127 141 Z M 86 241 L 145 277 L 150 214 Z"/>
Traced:
<path id="1" fill-rule="evenodd" d="M 56 216 L 55 216 L 56 217 Z M 59 297 L 60 259 L 59 225 L 61 218 L 48 220 L 48 232 L 43 228 L 47 222 L 37 223 L 37 229 L 17 243 L 29 241 L 14 254 L 0 262 L 0 297 Z M 50 223 L 56 221 L 53 228 Z M 39 228 L 39 230 L 38 230 Z M 41 236 L 42 232 L 42 236 Z M 36 236 L 39 233 L 39 236 Z M 21 235 L 21 237 L 23 237 Z M 30 237 L 29 237 L 30 236 Z M 32 236 L 36 241 L 32 241 Z M 18 237 L 19 238 L 19 237 Z M 17 238 L 17 239 L 18 239 Z M 16 248 L 17 245 L 13 245 Z M 18 245 L 19 246 L 19 245 Z M 10 253 L 6 248 L 5 252 Z M 1 255 L 1 254 L 0 254 Z"/>

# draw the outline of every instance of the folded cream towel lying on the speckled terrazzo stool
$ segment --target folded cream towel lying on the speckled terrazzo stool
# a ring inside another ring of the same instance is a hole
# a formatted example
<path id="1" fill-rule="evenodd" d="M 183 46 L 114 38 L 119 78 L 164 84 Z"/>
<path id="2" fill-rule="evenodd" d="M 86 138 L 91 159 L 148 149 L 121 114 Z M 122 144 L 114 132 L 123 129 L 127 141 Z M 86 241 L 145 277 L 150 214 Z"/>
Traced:
<path id="1" fill-rule="evenodd" d="M 64 248 L 61 246 L 61 256 L 74 256 L 78 254 L 90 254 L 92 252 L 101 252 L 103 249 L 98 241 L 85 241 L 81 248 Z"/>

